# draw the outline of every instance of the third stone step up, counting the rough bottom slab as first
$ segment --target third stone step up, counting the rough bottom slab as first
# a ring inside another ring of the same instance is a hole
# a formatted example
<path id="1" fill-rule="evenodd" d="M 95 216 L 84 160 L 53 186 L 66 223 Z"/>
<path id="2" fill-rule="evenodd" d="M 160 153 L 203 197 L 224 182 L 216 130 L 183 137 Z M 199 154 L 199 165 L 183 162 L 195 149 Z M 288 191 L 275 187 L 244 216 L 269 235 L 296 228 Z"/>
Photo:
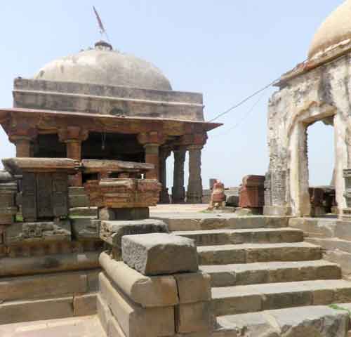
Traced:
<path id="1" fill-rule="evenodd" d="M 244 286 L 341 277 L 340 267 L 325 260 L 202 265 L 200 268 L 211 276 L 212 286 Z"/>

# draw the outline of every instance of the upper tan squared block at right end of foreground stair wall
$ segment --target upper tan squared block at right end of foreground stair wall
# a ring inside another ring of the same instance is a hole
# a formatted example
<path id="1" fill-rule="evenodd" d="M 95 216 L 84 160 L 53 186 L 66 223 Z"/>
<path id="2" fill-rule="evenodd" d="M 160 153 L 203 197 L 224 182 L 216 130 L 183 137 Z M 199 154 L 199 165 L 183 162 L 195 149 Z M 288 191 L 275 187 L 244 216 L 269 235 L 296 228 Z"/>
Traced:
<path id="1" fill-rule="evenodd" d="M 201 272 L 174 275 L 178 286 L 179 303 L 211 300 L 211 277 Z"/>

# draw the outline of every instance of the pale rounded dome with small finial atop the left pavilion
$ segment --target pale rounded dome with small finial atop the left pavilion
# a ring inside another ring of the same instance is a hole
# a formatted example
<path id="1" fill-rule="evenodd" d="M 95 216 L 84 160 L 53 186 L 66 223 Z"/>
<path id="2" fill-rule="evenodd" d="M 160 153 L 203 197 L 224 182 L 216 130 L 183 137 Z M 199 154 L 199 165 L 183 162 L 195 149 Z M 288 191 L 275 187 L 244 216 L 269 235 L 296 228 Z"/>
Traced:
<path id="1" fill-rule="evenodd" d="M 34 79 L 172 90 L 170 82 L 157 67 L 133 55 L 115 51 L 105 41 L 98 41 L 93 49 L 53 60 L 44 65 Z"/>

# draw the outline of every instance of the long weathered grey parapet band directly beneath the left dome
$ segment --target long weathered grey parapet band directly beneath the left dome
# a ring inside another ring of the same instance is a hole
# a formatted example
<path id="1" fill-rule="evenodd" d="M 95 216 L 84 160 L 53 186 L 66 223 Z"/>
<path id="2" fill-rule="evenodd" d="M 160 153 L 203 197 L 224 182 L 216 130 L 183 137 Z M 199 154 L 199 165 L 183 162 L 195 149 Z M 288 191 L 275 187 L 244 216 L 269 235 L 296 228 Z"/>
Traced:
<path id="1" fill-rule="evenodd" d="M 14 107 L 204 121 L 201 93 L 15 79 Z"/>

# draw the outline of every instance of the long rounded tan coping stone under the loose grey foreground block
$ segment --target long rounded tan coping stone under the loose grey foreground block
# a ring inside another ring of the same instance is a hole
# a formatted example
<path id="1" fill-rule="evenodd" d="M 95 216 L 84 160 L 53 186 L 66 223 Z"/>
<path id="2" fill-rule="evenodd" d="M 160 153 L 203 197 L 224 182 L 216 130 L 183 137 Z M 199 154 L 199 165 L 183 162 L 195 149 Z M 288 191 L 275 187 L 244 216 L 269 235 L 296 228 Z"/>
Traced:
<path id="1" fill-rule="evenodd" d="M 178 304 L 176 279 L 172 276 L 145 277 L 124 262 L 101 253 L 100 265 L 113 283 L 128 298 L 143 307 L 168 307 Z"/>

